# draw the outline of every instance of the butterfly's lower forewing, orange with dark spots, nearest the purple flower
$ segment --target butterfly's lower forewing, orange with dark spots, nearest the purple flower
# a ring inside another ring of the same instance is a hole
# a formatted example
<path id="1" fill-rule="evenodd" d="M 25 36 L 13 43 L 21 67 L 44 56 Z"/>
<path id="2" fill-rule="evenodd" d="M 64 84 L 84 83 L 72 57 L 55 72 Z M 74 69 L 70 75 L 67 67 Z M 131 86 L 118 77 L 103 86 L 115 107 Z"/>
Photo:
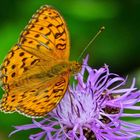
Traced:
<path id="1" fill-rule="evenodd" d="M 23 94 L 24 98 L 20 100 L 17 111 L 32 118 L 45 116 L 63 98 L 68 85 L 67 76 L 57 77 L 51 80 L 48 86 L 47 83 L 38 86 L 37 90 L 28 90 Z"/>

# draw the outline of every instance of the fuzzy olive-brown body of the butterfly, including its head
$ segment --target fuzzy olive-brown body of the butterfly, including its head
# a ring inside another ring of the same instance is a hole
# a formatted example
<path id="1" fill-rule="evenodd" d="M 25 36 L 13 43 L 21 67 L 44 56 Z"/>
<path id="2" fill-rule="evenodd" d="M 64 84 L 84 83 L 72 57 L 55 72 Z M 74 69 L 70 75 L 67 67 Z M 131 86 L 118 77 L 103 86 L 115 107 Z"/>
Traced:
<path id="1" fill-rule="evenodd" d="M 20 88 L 21 86 L 25 87 L 25 84 L 31 84 L 31 81 L 48 82 L 50 80 L 57 78 L 58 76 L 64 75 L 71 76 L 77 74 L 81 70 L 81 64 L 75 61 L 72 62 L 62 61 L 50 67 L 50 69 L 48 69 L 47 63 L 46 64 L 44 63 L 44 65 L 40 65 L 39 67 L 40 71 L 37 71 L 37 73 L 31 73 L 29 76 L 27 76 L 28 75 L 27 72 L 25 78 L 21 77 L 17 81 L 16 80 L 13 81 L 13 84 L 16 86 L 16 88 L 17 86 L 19 86 Z M 30 71 L 32 71 L 32 69 L 30 69 Z"/>

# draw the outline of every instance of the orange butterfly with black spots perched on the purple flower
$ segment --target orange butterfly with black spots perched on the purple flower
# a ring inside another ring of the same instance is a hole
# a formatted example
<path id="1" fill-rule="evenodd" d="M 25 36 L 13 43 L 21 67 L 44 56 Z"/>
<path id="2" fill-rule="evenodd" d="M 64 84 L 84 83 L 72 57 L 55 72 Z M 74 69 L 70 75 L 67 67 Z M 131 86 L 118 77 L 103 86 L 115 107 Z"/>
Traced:
<path id="1" fill-rule="evenodd" d="M 53 7 L 41 7 L 9 51 L 0 68 L 5 93 L 0 110 L 32 118 L 46 116 L 61 101 L 69 78 L 81 70 L 69 61 L 69 33 Z"/>

